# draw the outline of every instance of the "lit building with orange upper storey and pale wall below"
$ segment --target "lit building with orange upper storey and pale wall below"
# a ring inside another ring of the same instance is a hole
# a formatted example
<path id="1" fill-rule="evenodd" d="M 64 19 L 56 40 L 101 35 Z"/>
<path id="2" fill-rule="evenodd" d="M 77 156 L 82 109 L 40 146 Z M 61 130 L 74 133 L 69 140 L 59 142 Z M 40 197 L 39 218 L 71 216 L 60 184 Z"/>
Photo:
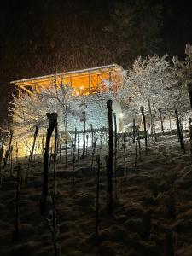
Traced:
<path id="1" fill-rule="evenodd" d="M 119 132 L 123 131 L 124 125 L 122 118 L 122 109 L 119 100 L 117 100 L 117 98 L 115 97 L 117 90 L 119 89 L 119 87 L 123 85 L 123 81 L 123 68 L 116 64 L 113 64 L 108 66 L 93 67 L 66 73 L 55 73 L 31 79 L 21 79 L 13 81 L 10 84 L 16 86 L 21 101 L 23 101 L 22 99 L 24 99 L 24 101 L 26 100 L 25 97 L 22 98 L 23 93 L 29 96 L 27 96 L 27 98 L 32 99 L 34 97 L 34 101 L 29 101 L 32 105 L 35 105 L 35 98 L 40 95 L 43 102 L 47 101 L 47 98 L 44 97 L 46 94 L 45 91 L 48 88 L 51 88 L 51 86 L 55 86 L 54 88 L 62 90 L 61 84 L 65 84 L 65 86 L 67 84 L 67 88 L 72 88 L 70 108 L 73 108 L 73 110 L 75 109 L 76 114 L 73 114 L 73 112 L 67 113 L 66 121 L 63 122 L 63 114 L 62 112 L 59 112 L 59 106 L 57 105 L 57 103 L 54 102 L 55 108 L 51 111 L 57 112 L 58 116 L 60 116 L 60 120 L 58 120 L 60 131 L 68 131 L 69 134 L 73 134 L 76 128 L 79 132 L 80 144 L 82 144 L 82 113 L 85 113 L 86 130 L 90 130 L 91 125 L 95 132 L 101 131 L 103 128 L 108 128 L 108 109 L 106 102 L 109 98 L 113 99 L 113 113 L 116 113 L 117 130 Z M 60 96 L 61 100 L 62 93 L 60 94 Z M 25 108 L 28 108 L 28 103 L 25 103 L 24 105 Z M 43 106 L 41 103 L 36 107 L 31 106 L 31 108 L 34 109 L 33 113 L 38 112 L 38 108 L 41 108 L 41 106 Z M 43 113 L 43 115 L 44 119 L 46 119 L 46 113 Z M 22 123 L 22 114 L 21 116 L 19 114 L 19 119 L 19 123 Z M 33 121 L 31 121 L 31 136 L 27 137 L 29 145 L 31 144 L 33 139 L 32 133 L 34 132 L 35 125 L 34 118 L 32 120 Z M 41 120 L 39 123 L 41 123 Z M 24 127 L 25 124 L 21 124 L 21 126 Z M 42 129 L 42 125 L 40 126 L 39 127 Z M 22 131 L 22 127 L 20 131 Z M 45 125 L 43 125 L 43 129 L 46 129 Z M 30 147 L 31 146 L 29 146 L 29 148 Z"/>

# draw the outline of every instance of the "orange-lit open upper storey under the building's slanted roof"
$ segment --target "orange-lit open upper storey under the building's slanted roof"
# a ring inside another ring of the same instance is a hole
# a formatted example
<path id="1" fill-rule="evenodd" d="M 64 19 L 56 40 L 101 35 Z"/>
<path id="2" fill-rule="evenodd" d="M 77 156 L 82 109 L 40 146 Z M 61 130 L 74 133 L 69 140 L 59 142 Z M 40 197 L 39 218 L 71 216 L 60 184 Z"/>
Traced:
<path id="1" fill-rule="evenodd" d="M 123 83 L 122 67 L 113 64 L 102 67 L 93 67 L 78 71 L 57 73 L 43 77 L 32 79 L 22 79 L 13 81 L 10 84 L 15 84 L 20 92 L 26 91 L 32 95 L 32 90 L 40 93 L 50 84 L 68 84 L 73 87 L 74 95 L 89 95 L 96 92 L 106 92 L 108 87 L 106 81 L 112 82 L 113 92 Z"/>

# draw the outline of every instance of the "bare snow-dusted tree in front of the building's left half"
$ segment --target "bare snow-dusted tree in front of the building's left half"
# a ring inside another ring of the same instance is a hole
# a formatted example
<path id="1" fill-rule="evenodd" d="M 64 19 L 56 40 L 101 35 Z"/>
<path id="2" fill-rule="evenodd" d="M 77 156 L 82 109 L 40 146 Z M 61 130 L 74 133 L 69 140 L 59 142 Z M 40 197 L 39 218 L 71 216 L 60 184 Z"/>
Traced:
<path id="1" fill-rule="evenodd" d="M 46 113 L 56 112 L 58 114 L 58 124 L 62 131 L 67 129 L 67 113 L 77 114 L 71 108 L 73 99 L 73 89 L 67 84 L 59 86 L 53 82 L 41 93 L 32 91 L 33 95 L 26 93 L 20 97 L 13 96 L 9 110 L 13 116 L 13 129 L 15 137 L 26 137 L 35 130 L 35 125 L 45 128 L 47 126 Z"/>

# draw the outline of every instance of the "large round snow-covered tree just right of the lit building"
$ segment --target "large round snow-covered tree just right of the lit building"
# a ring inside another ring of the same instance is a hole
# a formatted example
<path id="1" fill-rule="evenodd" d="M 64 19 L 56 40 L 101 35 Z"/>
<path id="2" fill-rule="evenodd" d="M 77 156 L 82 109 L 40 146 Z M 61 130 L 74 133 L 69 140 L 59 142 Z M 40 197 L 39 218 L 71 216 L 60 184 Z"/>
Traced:
<path id="1" fill-rule="evenodd" d="M 182 101 L 184 97 L 187 102 L 187 97 L 177 85 L 176 71 L 166 61 L 166 57 L 167 55 L 148 56 L 146 59 L 139 57 L 127 71 L 120 96 L 122 102 L 129 105 L 130 111 L 139 113 L 140 106 L 148 109 L 148 101 L 166 113 L 174 111 L 175 108 L 184 110 Z M 185 107 L 189 105 L 188 103 Z"/>

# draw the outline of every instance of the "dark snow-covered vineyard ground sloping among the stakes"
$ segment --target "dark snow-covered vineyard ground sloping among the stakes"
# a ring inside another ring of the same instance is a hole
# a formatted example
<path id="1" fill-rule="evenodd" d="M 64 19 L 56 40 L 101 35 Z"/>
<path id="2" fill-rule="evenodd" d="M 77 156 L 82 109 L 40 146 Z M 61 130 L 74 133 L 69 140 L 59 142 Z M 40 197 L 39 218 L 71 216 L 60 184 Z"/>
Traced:
<path id="1" fill-rule="evenodd" d="M 176 136 L 158 137 L 135 163 L 135 145 L 126 145 L 126 177 L 123 149 L 119 144 L 117 187 L 113 183 L 113 215 L 106 208 L 107 179 L 104 160 L 100 177 L 99 236 L 96 241 L 96 160 L 90 172 L 91 149 L 75 163 L 68 155 L 56 166 L 55 209 L 60 224 L 61 255 L 182 255 L 192 252 L 192 170 L 189 138 L 186 154 Z M 100 149 L 96 149 L 96 154 Z M 137 151 L 139 156 L 139 150 Z M 15 163 L 14 163 L 15 165 Z M 27 160 L 20 160 L 27 169 Z M 7 173 L 9 174 L 7 167 Z M 39 212 L 43 172 L 36 158 L 28 184 L 20 188 L 19 241 L 15 241 L 16 178 L 4 177 L 0 190 L 0 255 L 55 255 L 46 218 Z M 51 164 L 50 170 L 53 169 Z M 68 171 L 68 172 L 65 172 Z M 15 175 L 15 172 L 14 172 Z M 51 178 L 49 185 L 51 185 Z M 116 191 L 115 191 L 116 190 Z M 116 196 L 116 195 L 117 196 Z M 48 198 L 50 199 L 50 198 Z M 51 200 L 48 200 L 50 203 Z M 51 205 L 51 204 L 50 204 Z"/>

